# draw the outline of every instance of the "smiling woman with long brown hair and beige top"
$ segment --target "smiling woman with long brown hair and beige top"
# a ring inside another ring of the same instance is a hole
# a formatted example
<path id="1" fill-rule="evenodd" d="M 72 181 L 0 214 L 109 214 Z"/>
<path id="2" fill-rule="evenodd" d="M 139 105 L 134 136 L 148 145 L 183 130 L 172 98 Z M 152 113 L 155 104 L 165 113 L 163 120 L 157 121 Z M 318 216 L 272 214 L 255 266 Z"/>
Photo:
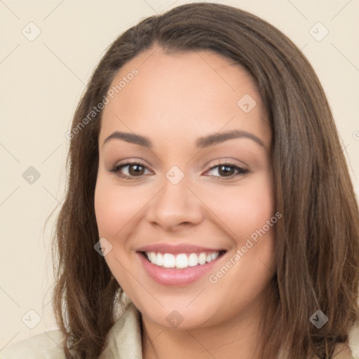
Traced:
<path id="1" fill-rule="evenodd" d="M 285 35 L 219 4 L 142 20 L 67 137 L 62 341 L 5 358 L 28 344 L 34 358 L 351 358 L 358 205 L 323 89 Z"/>

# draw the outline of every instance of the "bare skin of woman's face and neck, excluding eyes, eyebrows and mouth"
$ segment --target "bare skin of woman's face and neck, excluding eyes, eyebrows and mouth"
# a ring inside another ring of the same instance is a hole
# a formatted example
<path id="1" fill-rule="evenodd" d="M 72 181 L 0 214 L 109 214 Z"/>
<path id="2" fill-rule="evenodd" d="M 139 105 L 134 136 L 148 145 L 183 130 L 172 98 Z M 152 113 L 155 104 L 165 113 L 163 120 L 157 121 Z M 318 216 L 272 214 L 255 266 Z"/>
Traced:
<path id="1" fill-rule="evenodd" d="M 168 55 L 151 48 L 126 63 L 112 84 L 134 67 L 137 76 L 102 113 L 95 213 L 100 238 L 112 245 L 104 257 L 109 269 L 142 313 L 143 356 L 252 358 L 262 341 L 260 320 L 271 311 L 275 225 L 217 283 L 208 276 L 274 215 L 271 129 L 257 88 L 242 67 L 209 50 Z M 256 101 L 249 113 L 237 105 L 245 94 Z M 198 137 L 227 130 L 247 131 L 264 146 L 234 138 L 196 148 Z M 149 137 L 153 147 L 118 139 L 104 144 L 114 131 Z M 144 163 L 140 175 L 133 166 L 109 171 L 132 161 Z M 248 172 L 235 177 L 231 168 L 229 178 L 213 168 L 226 162 Z M 173 165 L 184 174 L 176 185 L 165 177 Z M 195 283 L 164 286 L 136 253 L 158 242 L 227 252 Z M 183 318 L 177 328 L 166 320 L 173 310 Z"/>

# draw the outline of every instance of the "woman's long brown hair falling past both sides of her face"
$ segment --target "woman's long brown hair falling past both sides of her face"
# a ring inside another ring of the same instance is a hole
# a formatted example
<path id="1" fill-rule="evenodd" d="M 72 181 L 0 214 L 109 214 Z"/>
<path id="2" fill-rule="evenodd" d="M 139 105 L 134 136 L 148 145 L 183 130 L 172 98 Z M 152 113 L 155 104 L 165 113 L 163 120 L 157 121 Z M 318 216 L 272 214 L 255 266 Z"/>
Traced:
<path id="1" fill-rule="evenodd" d="M 359 316 L 359 215 L 330 107 L 290 39 L 255 15 L 208 3 L 178 6 L 121 34 L 76 109 L 67 195 L 53 242 L 53 304 L 67 339 L 66 358 L 99 357 L 122 292 L 94 250 L 102 111 L 90 120 L 88 114 L 118 69 L 154 45 L 168 52 L 213 50 L 255 79 L 271 121 L 276 211 L 283 215 L 276 224 L 276 311 L 264 320 L 262 353 L 271 358 L 281 349 L 290 358 L 332 358 Z M 309 320 L 317 310 L 328 318 L 320 329 Z"/>

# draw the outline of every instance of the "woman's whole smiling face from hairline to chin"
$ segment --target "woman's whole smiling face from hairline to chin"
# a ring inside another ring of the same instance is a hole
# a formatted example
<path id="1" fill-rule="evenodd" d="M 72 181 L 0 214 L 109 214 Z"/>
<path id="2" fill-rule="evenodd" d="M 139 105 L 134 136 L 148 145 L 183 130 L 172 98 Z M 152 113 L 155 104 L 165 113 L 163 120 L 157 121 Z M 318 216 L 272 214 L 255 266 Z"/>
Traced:
<path id="1" fill-rule="evenodd" d="M 280 215 L 252 78 L 208 50 L 152 48 L 120 69 L 108 94 L 95 212 L 118 283 L 163 327 L 258 313 Z"/>

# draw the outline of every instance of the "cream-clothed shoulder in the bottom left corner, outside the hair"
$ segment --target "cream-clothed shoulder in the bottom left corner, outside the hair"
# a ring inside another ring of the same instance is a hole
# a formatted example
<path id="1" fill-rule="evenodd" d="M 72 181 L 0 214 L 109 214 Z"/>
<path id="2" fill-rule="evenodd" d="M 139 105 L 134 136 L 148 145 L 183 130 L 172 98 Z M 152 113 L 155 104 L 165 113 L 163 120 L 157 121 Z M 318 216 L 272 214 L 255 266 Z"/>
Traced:
<path id="1" fill-rule="evenodd" d="M 64 336 L 60 330 L 36 334 L 0 351 L 0 359 L 65 359 Z"/>

